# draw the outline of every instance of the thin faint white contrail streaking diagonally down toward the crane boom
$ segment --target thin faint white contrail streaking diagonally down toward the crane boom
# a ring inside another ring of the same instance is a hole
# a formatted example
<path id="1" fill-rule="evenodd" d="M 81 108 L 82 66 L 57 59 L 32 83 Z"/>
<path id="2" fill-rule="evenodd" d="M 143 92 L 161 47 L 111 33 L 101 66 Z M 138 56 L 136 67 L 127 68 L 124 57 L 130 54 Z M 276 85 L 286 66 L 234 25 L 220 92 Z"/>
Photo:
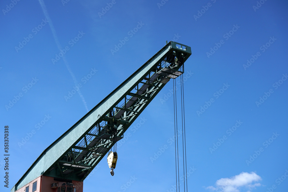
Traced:
<path id="1" fill-rule="evenodd" d="M 50 28 L 51 28 L 51 31 L 52 31 L 54 40 L 55 40 L 55 42 L 56 42 L 56 45 L 57 45 L 57 47 L 58 47 L 58 50 L 61 51 L 62 47 L 61 47 L 61 45 L 60 45 L 60 43 L 59 43 L 59 41 L 58 41 L 58 37 L 57 37 L 57 34 L 56 34 L 56 30 L 55 30 L 55 28 L 54 28 L 54 26 L 53 26 L 52 20 L 50 19 L 48 12 L 47 12 L 46 5 L 44 4 L 44 1 L 43 1 L 43 0 L 39 0 L 39 3 L 40 3 L 40 5 L 41 5 L 41 7 L 42 7 L 42 10 L 43 10 L 43 13 L 44 13 L 46 19 L 48 20 L 48 23 L 49 23 L 49 26 L 50 26 Z M 74 84 L 77 86 L 78 81 L 76 80 L 74 73 L 71 71 L 70 66 L 68 65 L 68 62 L 67 62 L 67 60 L 66 60 L 66 58 L 65 58 L 64 55 L 63 55 L 62 59 L 63 59 L 65 65 L 66 65 L 66 67 L 67 67 L 70 75 L 71 75 L 72 78 L 73 78 Z M 82 95 L 82 93 L 81 93 L 81 91 L 80 91 L 80 88 L 78 88 L 78 91 L 77 91 L 77 92 L 78 92 L 79 96 L 81 97 L 82 102 L 83 102 L 83 104 L 84 104 L 84 106 L 85 106 L 85 108 L 86 108 L 86 110 L 87 110 L 87 112 L 88 112 L 89 110 L 88 110 L 88 107 L 87 107 L 87 103 L 86 103 L 86 101 L 85 101 L 85 99 L 84 99 L 84 97 L 83 97 L 83 95 Z"/>

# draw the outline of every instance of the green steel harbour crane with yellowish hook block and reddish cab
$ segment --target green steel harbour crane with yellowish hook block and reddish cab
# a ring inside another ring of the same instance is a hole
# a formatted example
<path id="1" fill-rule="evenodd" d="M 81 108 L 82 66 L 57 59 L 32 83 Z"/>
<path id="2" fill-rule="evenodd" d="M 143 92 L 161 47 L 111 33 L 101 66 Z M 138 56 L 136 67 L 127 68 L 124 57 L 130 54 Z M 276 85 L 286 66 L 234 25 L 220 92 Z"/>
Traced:
<path id="1" fill-rule="evenodd" d="M 179 69 L 190 55 L 190 47 L 167 43 L 45 149 L 11 192 L 83 192 L 83 180 L 164 85 L 184 73 Z M 112 176 L 117 158 L 110 151 Z"/>

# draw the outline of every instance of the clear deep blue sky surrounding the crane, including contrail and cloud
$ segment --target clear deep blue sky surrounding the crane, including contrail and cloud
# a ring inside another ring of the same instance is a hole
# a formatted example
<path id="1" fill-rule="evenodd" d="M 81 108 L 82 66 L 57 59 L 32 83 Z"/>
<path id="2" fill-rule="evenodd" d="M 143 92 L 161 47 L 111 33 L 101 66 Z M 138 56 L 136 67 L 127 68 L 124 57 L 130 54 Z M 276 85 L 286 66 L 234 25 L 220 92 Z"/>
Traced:
<path id="1" fill-rule="evenodd" d="M 0 3 L 10 189 L 44 149 L 174 38 L 192 49 L 184 73 L 188 191 L 287 191 L 287 1 L 42 2 Z M 107 3 L 113 6 L 104 12 Z M 65 56 L 57 58 L 60 50 Z M 78 83 L 81 94 L 69 97 Z M 115 175 L 103 159 L 84 191 L 174 190 L 172 88 L 170 81 L 141 113 L 132 125 L 145 119 L 138 130 L 127 130 Z"/>

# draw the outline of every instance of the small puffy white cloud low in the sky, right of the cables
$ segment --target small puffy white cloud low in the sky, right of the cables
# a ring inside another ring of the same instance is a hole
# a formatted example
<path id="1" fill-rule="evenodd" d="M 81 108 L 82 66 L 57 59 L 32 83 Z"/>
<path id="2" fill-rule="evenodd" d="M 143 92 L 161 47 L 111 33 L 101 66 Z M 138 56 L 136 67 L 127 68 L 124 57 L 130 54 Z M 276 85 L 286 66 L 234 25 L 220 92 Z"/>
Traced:
<path id="1" fill-rule="evenodd" d="M 255 172 L 242 172 L 230 178 L 221 178 L 216 181 L 215 186 L 208 186 L 206 189 L 217 192 L 240 192 L 240 189 L 243 189 L 251 192 L 255 187 L 261 186 L 260 183 L 257 183 L 260 180 L 262 178 Z"/>

